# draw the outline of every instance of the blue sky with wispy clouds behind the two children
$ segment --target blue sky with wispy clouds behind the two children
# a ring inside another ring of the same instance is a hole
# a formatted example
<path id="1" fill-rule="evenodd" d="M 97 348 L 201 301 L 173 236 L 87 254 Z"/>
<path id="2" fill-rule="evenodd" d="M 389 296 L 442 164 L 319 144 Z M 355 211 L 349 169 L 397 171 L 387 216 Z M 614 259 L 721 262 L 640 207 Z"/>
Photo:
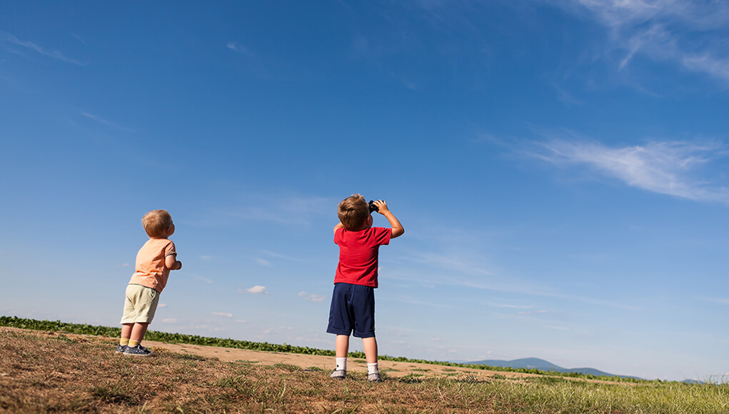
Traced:
<path id="1" fill-rule="evenodd" d="M 381 354 L 729 375 L 729 6 L 0 8 L 1 314 L 118 324 L 165 208 L 150 329 L 332 349 L 360 192 Z"/>

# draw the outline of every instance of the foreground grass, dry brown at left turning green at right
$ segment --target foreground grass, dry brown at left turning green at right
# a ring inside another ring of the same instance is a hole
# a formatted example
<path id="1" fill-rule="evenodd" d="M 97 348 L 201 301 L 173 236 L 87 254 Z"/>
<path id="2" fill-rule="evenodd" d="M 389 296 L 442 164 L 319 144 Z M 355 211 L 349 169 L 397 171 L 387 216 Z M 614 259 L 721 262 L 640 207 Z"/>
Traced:
<path id="1" fill-rule="evenodd" d="M 0 410 L 9 413 L 729 413 L 726 384 L 489 380 L 331 380 L 289 364 L 221 362 L 161 350 L 114 354 L 114 340 L 0 331 Z"/>

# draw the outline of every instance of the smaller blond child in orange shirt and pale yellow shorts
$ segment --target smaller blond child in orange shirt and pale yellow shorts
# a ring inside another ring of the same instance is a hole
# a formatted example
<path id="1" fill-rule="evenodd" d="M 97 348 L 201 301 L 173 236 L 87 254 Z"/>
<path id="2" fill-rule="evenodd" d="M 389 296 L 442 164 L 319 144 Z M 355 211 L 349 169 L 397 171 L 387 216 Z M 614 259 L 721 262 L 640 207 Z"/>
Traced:
<path id="1" fill-rule="evenodd" d="M 175 224 L 167 211 L 149 211 L 141 224 L 149 240 L 137 253 L 135 273 L 127 285 L 117 354 L 149 356 L 153 353 L 141 345 L 141 340 L 155 317 L 170 270 L 182 269 L 182 262 L 177 260 L 175 243 L 168 239 L 175 233 Z"/>

